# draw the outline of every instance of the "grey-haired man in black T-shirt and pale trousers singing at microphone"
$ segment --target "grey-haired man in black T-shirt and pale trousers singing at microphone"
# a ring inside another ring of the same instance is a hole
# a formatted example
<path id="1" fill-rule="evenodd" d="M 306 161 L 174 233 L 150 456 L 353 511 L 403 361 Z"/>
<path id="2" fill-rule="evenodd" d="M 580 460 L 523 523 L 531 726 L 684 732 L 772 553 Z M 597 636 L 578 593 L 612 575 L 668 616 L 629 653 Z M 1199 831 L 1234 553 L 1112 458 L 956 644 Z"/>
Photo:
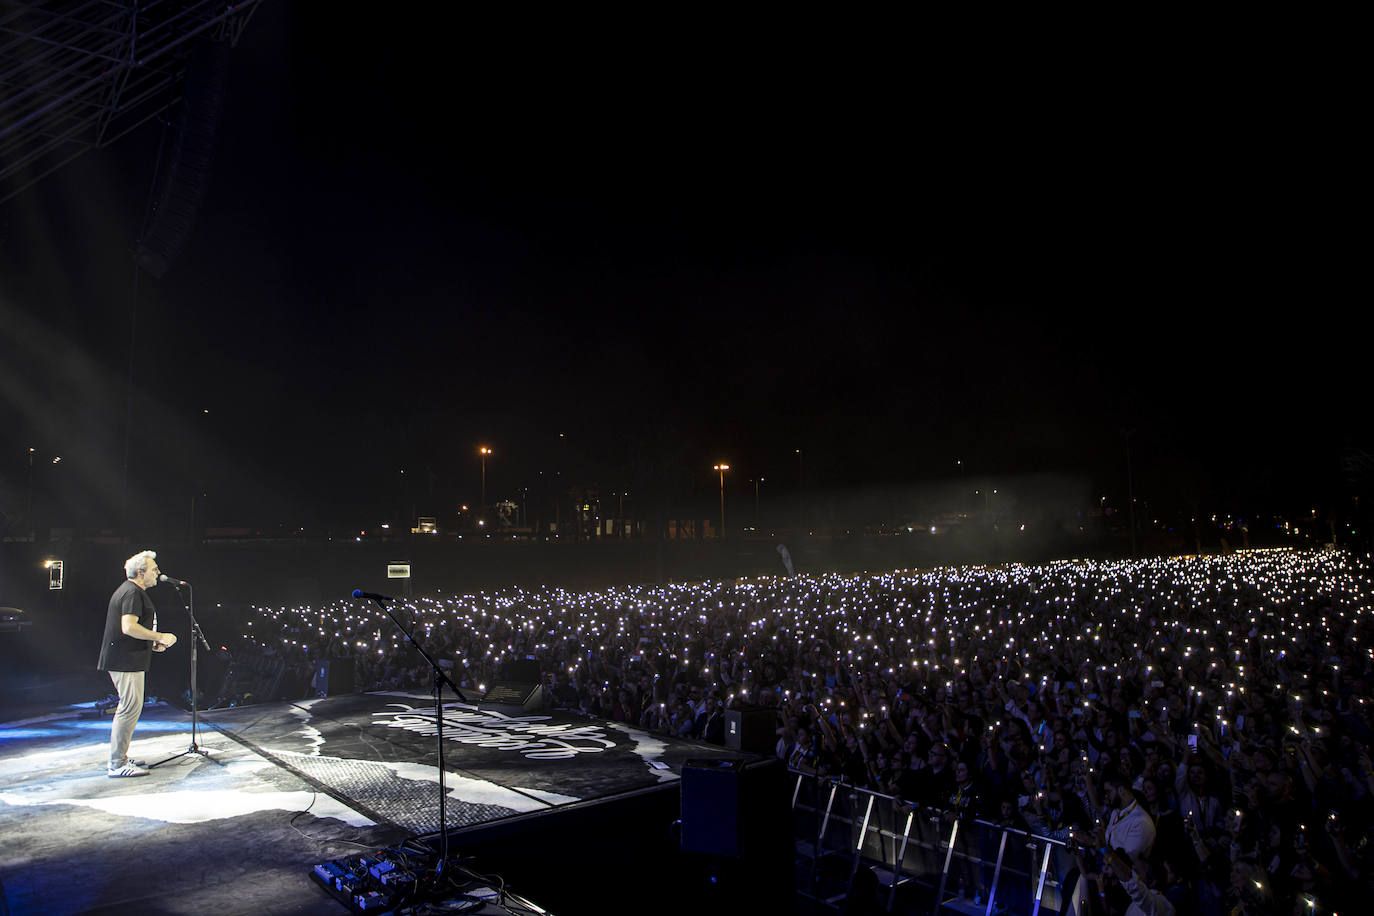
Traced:
<path id="1" fill-rule="evenodd" d="M 96 667 L 110 672 L 120 694 L 120 707 L 110 726 L 110 776 L 148 775 L 142 761 L 129 759 L 129 740 L 143 713 L 143 677 L 153 652 L 165 652 L 176 644 L 174 634 L 158 632 L 158 608 L 148 597 L 148 589 L 158 584 L 157 556 L 153 551 L 142 551 L 124 562 L 128 581 L 114 589 L 104 618 L 104 641 Z"/>

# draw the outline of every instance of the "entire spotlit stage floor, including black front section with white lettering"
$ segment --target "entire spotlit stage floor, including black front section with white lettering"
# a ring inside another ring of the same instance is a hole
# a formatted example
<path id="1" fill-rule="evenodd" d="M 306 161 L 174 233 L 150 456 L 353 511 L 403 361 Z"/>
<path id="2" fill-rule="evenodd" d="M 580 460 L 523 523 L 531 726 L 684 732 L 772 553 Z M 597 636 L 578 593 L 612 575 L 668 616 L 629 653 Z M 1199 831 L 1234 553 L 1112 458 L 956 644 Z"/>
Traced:
<path id="1" fill-rule="evenodd" d="M 109 714 L 82 705 L 5 722 L 0 890 L 16 913 L 346 912 L 308 872 L 438 829 L 433 699 L 414 694 L 213 710 L 196 737 L 209 758 L 109 779 Z M 451 831 L 671 787 L 692 758 L 750 758 L 456 702 L 444 739 Z M 190 744 L 188 713 L 147 706 L 131 755 L 155 762 Z"/>

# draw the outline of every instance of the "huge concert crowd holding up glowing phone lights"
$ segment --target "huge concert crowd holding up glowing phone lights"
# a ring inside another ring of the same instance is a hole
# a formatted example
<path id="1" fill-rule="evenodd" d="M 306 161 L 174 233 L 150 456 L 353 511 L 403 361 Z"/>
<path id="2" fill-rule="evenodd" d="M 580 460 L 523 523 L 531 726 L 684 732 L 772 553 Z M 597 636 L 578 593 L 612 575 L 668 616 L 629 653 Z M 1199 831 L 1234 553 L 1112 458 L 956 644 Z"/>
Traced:
<path id="1" fill-rule="evenodd" d="M 789 575 L 398 610 L 478 692 L 537 659 L 587 715 L 706 742 L 772 707 L 790 768 L 1068 845 L 1091 913 L 1356 912 L 1374 875 L 1374 615 L 1337 549 Z M 379 610 L 254 608 L 251 641 L 427 688 Z"/>

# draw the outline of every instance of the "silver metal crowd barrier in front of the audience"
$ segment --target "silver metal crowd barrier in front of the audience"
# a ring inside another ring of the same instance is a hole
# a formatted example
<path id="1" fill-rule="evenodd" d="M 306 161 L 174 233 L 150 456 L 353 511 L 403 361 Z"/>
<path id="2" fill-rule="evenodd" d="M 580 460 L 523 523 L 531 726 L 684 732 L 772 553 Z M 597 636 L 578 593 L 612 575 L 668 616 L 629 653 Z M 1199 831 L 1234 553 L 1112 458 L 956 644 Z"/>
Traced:
<path id="1" fill-rule="evenodd" d="M 1062 840 L 976 818 L 945 818 L 937 809 L 900 803 L 892 795 L 790 770 L 793 831 L 798 851 L 811 858 L 811 889 L 819 886 L 822 858 L 846 861 L 844 900 L 867 865 L 886 890 L 886 909 L 897 889 L 915 883 L 933 891 L 932 916 L 1040 916 L 1065 913 L 1063 879 L 1074 865 Z"/>

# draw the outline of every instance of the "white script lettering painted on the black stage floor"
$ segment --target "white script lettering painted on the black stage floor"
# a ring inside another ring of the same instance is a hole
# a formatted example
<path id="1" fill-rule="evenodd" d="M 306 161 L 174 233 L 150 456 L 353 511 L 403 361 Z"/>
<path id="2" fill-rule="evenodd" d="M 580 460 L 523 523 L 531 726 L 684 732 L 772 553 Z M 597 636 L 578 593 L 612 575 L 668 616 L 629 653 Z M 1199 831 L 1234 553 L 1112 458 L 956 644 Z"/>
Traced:
<path id="1" fill-rule="evenodd" d="M 398 713 L 372 713 L 378 724 L 416 735 L 436 735 L 434 710 L 392 703 Z M 616 742 L 598 725 L 547 724 L 551 715 L 503 715 L 463 703 L 444 706 L 444 737 L 499 751 L 519 751 L 529 759 L 572 759 L 600 754 Z"/>

